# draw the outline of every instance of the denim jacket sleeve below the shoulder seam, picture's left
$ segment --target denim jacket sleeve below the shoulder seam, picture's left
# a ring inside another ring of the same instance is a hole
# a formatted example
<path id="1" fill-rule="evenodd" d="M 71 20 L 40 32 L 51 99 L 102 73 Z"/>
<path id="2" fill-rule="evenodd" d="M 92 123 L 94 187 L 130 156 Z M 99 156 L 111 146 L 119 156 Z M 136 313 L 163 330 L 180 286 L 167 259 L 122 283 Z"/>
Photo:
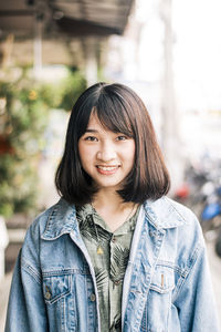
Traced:
<path id="1" fill-rule="evenodd" d="M 22 258 L 21 251 L 12 278 L 4 331 L 48 331 L 41 277 L 38 270 Z"/>

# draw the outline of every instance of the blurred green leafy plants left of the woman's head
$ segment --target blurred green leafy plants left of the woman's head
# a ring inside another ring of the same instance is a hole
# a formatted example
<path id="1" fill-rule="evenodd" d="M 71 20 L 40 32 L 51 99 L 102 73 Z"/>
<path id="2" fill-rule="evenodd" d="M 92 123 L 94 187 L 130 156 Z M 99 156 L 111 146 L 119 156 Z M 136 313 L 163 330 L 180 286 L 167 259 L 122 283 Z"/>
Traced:
<path id="1" fill-rule="evenodd" d="M 38 165 L 51 108 L 70 111 L 86 87 L 78 71 L 53 84 L 28 77 L 0 82 L 0 214 L 36 208 Z"/>

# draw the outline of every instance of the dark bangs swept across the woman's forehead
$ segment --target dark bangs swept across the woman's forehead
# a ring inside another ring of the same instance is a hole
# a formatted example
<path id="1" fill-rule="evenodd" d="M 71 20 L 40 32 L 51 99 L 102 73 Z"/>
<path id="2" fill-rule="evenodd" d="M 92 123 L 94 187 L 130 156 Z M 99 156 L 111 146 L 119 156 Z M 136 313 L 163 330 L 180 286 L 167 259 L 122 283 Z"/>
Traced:
<path id="1" fill-rule="evenodd" d="M 129 105 L 128 105 L 129 107 Z M 101 124 L 114 133 L 123 133 L 128 137 L 134 137 L 134 126 L 129 118 L 129 110 L 116 96 L 101 94 L 93 113 L 96 114 Z"/>

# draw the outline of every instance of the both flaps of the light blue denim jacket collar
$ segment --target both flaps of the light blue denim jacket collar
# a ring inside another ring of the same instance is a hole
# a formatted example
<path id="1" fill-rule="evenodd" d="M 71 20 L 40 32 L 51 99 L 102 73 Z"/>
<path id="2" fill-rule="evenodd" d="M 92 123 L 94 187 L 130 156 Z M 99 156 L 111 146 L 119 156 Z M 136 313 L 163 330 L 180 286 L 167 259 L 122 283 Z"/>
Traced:
<path id="1" fill-rule="evenodd" d="M 147 220 L 156 229 L 176 228 L 187 224 L 185 217 L 176 209 L 176 204 L 172 204 L 172 200 L 167 197 L 155 201 L 145 201 L 144 209 Z M 44 240 L 54 240 L 72 231 L 80 235 L 75 206 L 70 205 L 61 198 L 56 205 L 51 207 L 46 227 L 41 238 Z"/>

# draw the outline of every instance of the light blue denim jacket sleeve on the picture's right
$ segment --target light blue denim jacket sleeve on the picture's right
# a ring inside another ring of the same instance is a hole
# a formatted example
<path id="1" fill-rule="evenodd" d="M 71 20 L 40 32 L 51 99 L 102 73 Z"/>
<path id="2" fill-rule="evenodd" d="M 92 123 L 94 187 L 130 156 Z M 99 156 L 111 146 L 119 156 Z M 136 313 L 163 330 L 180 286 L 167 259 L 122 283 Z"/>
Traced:
<path id="1" fill-rule="evenodd" d="M 191 253 L 182 278 L 175 301 L 181 332 L 220 331 L 203 240 Z"/>

